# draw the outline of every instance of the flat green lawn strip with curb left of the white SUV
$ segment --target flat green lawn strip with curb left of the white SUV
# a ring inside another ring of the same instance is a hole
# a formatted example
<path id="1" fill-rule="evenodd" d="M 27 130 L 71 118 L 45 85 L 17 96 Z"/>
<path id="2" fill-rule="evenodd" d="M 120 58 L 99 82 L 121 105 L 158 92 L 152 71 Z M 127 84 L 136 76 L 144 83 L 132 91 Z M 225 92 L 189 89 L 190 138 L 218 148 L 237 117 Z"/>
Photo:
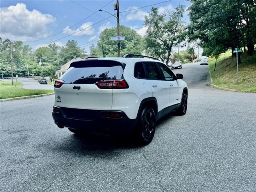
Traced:
<path id="1" fill-rule="evenodd" d="M 14 82 L 15 85 L 15 82 Z M 22 85 L 21 82 L 17 82 L 17 86 Z M 30 90 L 12 86 L 11 82 L 0 81 L 0 99 L 41 95 L 46 93 L 52 93 L 54 90 Z"/>

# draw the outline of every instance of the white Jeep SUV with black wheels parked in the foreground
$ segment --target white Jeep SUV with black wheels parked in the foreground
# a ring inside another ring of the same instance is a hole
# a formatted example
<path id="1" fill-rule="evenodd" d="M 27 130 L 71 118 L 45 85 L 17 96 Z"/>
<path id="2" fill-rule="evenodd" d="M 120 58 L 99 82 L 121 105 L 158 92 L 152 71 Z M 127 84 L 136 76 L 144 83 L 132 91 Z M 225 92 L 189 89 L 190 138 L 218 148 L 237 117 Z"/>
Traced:
<path id="1" fill-rule="evenodd" d="M 141 144 L 154 137 L 156 120 L 176 110 L 186 114 L 188 88 L 154 58 L 76 60 L 54 84 L 52 116 L 71 132 L 132 132 Z"/>

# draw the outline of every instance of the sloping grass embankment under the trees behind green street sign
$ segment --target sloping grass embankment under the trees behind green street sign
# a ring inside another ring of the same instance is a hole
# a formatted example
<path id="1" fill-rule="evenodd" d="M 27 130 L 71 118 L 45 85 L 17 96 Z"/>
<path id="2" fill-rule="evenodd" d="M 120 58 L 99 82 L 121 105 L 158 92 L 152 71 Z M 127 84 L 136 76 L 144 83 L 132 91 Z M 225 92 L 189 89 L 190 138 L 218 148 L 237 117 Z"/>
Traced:
<path id="1" fill-rule="evenodd" d="M 236 83 L 236 58 L 232 58 L 231 51 L 220 54 L 214 71 L 215 60 L 214 58 L 209 59 L 213 84 L 235 90 L 256 91 L 255 53 L 253 56 L 241 55 L 241 64 L 238 65 L 238 84 Z"/>

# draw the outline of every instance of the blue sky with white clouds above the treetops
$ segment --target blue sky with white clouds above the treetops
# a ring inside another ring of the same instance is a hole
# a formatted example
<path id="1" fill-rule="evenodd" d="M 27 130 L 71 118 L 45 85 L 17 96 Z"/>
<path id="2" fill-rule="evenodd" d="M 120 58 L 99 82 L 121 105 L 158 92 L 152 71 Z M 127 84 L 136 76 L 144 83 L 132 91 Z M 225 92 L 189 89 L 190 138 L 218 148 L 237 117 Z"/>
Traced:
<path id="1" fill-rule="evenodd" d="M 152 6 L 128 10 L 164 1 L 166 0 L 119 0 L 120 12 L 127 11 L 120 13 L 120 25 L 130 27 L 144 36 L 144 16 Z M 22 40 L 24 44 L 32 46 L 33 50 L 53 42 L 62 46 L 74 39 L 89 52 L 91 44 L 97 42 L 100 32 L 116 27 L 114 16 L 98 11 L 102 9 L 116 14 L 113 6 L 115 3 L 116 0 L 0 0 L 0 36 L 13 41 Z M 171 0 L 154 7 L 158 8 L 159 13 L 170 14 L 179 4 L 188 8 L 190 2 Z M 184 14 L 186 23 L 189 22 L 187 14 L 188 11 Z"/>

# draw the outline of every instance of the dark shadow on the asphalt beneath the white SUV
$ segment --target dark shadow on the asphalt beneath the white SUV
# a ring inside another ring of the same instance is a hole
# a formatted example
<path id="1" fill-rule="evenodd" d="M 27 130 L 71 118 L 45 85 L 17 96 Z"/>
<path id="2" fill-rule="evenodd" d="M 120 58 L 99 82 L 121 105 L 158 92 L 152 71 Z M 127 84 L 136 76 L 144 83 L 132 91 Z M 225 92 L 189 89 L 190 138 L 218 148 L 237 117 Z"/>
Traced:
<path id="1" fill-rule="evenodd" d="M 155 137 L 158 137 L 158 131 L 164 124 L 170 121 L 174 113 L 170 113 L 157 121 Z M 154 142 L 154 139 L 153 141 Z M 150 144 L 149 144 L 150 146 Z M 118 156 L 119 153 L 132 152 L 143 149 L 147 146 L 140 146 L 132 134 L 106 134 L 106 133 L 80 133 L 66 136 L 59 142 L 51 146 L 54 152 L 70 152 L 81 156 Z M 132 150 L 131 150 L 132 149 Z"/>

